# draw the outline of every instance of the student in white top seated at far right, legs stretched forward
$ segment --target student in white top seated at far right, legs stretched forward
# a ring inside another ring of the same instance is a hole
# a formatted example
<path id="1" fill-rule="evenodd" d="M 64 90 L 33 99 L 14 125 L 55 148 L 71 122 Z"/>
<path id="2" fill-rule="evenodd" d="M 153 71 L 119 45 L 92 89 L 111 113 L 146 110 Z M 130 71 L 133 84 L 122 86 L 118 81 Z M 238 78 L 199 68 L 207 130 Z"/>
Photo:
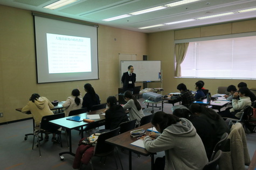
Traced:
<path id="1" fill-rule="evenodd" d="M 252 105 L 250 97 L 248 97 L 249 92 L 250 90 L 247 87 L 241 87 L 239 89 L 239 92 L 235 92 L 233 94 L 232 108 L 229 110 L 224 110 L 222 112 L 219 112 L 218 114 L 222 117 L 231 117 L 231 118 L 240 119 L 244 108 L 246 106 Z M 238 98 L 240 100 L 238 100 Z"/>

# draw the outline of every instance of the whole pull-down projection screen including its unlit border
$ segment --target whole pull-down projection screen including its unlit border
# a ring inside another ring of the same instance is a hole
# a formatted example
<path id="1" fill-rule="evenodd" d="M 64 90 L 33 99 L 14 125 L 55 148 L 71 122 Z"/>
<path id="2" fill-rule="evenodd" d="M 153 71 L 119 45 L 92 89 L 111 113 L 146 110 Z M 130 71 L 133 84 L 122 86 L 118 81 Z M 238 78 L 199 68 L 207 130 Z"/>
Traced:
<path id="1" fill-rule="evenodd" d="M 34 16 L 37 83 L 99 79 L 97 28 Z"/>

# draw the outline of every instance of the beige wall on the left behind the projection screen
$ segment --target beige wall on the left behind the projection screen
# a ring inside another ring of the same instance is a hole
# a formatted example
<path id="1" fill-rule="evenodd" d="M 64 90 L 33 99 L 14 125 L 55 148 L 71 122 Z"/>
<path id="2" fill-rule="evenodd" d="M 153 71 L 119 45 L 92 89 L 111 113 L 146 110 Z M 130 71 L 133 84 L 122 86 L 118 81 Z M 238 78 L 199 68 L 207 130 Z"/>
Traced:
<path id="1" fill-rule="evenodd" d="M 106 102 L 120 84 L 119 53 L 137 54 L 140 60 L 147 55 L 147 34 L 100 25 L 99 80 L 37 84 L 31 11 L 0 5 L 0 23 L 0 123 L 30 117 L 15 108 L 25 106 L 32 93 L 64 101 L 77 86 L 84 95 L 84 84 L 91 83 Z"/>

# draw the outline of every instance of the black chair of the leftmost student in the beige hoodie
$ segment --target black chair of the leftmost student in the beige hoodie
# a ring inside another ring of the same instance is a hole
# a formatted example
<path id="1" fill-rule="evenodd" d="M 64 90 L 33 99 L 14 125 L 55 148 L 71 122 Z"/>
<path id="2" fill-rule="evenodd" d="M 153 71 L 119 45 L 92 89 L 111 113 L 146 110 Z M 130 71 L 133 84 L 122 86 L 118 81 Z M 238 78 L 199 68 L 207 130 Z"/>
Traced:
<path id="1" fill-rule="evenodd" d="M 60 143 L 60 146 L 62 147 L 62 142 L 61 142 L 61 130 L 58 130 L 60 127 L 57 125 L 53 125 L 49 123 L 51 120 L 56 120 L 65 117 L 64 113 L 58 113 L 58 114 L 53 114 L 53 115 L 47 115 L 43 116 L 40 122 L 39 127 L 34 127 L 34 137 L 33 137 L 33 145 L 32 145 L 32 150 L 34 150 L 34 138 L 37 137 L 37 146 L 39 149 L 39 156 L 41 156 L 41 150 L 40 150 L 40 140 L 42 139 L 43 135 L 42 134 L 57 134 L 58 135 L 58 143 Z M 40 135 L 40 136 L 39 136 Z"/>

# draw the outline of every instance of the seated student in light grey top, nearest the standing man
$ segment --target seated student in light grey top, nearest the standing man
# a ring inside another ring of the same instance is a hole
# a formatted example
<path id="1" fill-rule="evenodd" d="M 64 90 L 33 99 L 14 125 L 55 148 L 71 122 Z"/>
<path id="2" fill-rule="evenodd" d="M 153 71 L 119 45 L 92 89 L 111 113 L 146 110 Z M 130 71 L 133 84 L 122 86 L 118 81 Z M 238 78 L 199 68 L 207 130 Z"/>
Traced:
<path id="1" fill-rule="evenodd" d="M 127 103 L 123 105 L 123 109 L 129 109 L 130 120 L 136 119 L 136 124 L 139 124 L 141 118 L 145 116 L 141 109 L 140 102 L 134 97 L 131 91 L 125 91 L 123 93 L 123 98 L 127 101 Z"/>

